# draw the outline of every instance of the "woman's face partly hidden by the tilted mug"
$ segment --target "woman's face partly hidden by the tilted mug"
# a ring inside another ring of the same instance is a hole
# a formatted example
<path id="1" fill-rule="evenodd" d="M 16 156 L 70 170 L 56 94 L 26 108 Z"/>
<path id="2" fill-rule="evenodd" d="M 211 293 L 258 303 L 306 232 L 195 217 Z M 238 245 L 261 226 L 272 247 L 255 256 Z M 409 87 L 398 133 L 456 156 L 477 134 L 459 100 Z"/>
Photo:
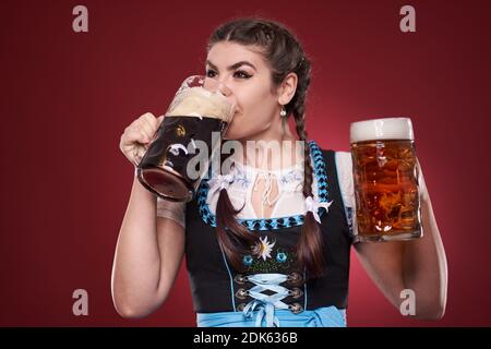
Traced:
<path id="1" fill-rule="evenodd" d="M 220 41 L 209 49 L 206 75 L 228 86 L 237 101 L 225 139 L 252 140 L 279 121 L 278 92 L 263 56 L 251 46 Z"/>

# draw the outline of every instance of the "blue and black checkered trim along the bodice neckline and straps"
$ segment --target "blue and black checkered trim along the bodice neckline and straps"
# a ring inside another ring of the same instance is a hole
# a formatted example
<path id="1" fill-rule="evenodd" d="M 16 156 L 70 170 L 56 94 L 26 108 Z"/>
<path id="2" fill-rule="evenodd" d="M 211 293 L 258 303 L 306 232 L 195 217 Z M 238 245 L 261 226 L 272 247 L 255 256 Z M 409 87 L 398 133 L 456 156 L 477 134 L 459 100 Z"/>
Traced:
<path id="1" fill-rule="evenodd" d="M 321 148 L 314 141 L 309 141 L 310 156 L 314 164 L 314 176 L 318 180 L 318 194 L 320 202 L 328 201 L 327 192 L 327 176 L 325 172 L 325 161 Z M 211 178 L 211 172 L 208 173 Z M 203 179 L 196 193 L 197 207 L 203 220 L 216 227 L 216 216 L 211 212 L 209 205 L 206 203 L 209 185 L 207 179 Z M 325 208 L 319 210 L 319 216 L 325 213 Z M 289 228 L 303 225 L 303 215 L 296 215 L 290 217 L 268 218 L 268 219 L 238 219 L 249 230 L 276 230 L 282 228 Z"/>

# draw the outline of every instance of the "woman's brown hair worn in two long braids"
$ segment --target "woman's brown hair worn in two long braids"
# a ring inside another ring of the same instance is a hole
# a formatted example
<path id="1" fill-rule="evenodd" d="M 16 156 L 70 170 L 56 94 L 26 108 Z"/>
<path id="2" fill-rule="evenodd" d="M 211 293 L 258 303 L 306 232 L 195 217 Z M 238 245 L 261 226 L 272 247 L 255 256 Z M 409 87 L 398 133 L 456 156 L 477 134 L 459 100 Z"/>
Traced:
<path id="1" fill-rule="evenodd" d="M 277 22 L 246 17 L 230 21 L 219 26 L 209 37 L 207 49 L 219 41 L 233 41 L 247 46 L 256 46 L 270 62 L 273 86 L 279 86 L 290 72 L 298 76 L 297 91 L 294 98 L 285 106 L 287 116 L 292 115 L 297 125 L 297 134 L 304 142 L 304 180 L 303 196 L 313 196 L 313 169 L 310 163 L 310 146 L 307 142 L 304 112 L 306 96 L 310 85 L 310 61 L 298 39 L 283 24 Z M 236 209 L 227 191 L 219 193 L 216 217 L 217 238 L 227 258 L 238 270 L 243 269 L 241 254 L 246 253 L 248 242 L 256 239 L 244 226 L 236 220 Z M 230 233 L 227 233 L 227 229 Z M 310 277 L 318 277 L 324 270 L 322 234 L 311 212 L 307 212 L 301 234 L 296 245 L 296 254 L 301 268 L 306 267 Z"/>

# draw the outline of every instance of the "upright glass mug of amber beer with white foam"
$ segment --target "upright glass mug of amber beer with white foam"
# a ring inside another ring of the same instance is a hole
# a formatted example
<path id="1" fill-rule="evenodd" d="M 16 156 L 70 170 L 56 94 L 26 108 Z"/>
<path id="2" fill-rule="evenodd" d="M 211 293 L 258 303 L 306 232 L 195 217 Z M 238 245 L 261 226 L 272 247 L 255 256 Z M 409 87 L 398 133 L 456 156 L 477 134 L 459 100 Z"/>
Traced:
<path id="1" fill-rule="evenodd" d="M 412 123 L 409 118 L 354 122 L 350 149 L 359 241 L 422 237 Z"/>

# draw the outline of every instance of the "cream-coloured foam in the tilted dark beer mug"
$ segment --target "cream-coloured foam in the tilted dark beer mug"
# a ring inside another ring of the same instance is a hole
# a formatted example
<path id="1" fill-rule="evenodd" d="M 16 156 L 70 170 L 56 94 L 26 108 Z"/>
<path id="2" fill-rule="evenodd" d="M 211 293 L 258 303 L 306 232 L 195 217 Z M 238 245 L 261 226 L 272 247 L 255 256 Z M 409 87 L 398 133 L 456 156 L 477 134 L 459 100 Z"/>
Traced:
<path id="1" fill-rule="evenodd" d="M 206 117 L 230 122 L 232 109 L 233 106 L 220 93 L 212 93 L 203 87 L 191 87 L 175 97 L 166 116 Z"/>

